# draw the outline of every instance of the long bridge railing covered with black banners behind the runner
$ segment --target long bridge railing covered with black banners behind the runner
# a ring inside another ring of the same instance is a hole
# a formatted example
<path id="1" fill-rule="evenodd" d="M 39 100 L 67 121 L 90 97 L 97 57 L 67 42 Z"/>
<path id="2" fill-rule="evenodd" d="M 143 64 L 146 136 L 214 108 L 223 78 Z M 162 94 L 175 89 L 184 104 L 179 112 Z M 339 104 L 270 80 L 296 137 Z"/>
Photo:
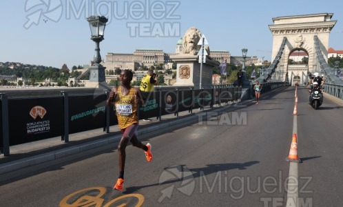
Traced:
<path id="1" fill-rule="evenodd" d="M 68 142 L 69 135 L 76 132 L 109 127 L 118 124 L 114 106 L 107 106 L 108 90 L 103 94 L 70 95 L 61 91 L 59 96 L 25 97 L 8 99 L 1 93 L 0 153 L 10 155 L 10 146 L 52 137 L 61 137 Z M 238 101 L 242 88 L 229 85 L 210 89 L 157 90 L 143 92 L 145 105 L 138 110 L 139 119 L 189 111 L 204 110 L 214 104 L 220 106 L 229 101 Z"/>

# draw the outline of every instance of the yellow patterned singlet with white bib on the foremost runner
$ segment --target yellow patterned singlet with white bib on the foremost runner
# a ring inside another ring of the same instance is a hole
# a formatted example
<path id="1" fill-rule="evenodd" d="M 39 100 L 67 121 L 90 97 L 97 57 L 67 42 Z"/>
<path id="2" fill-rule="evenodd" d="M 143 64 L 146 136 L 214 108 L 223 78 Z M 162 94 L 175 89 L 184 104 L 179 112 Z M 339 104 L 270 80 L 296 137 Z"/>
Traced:
<path id="1" fill-rule="evenodd" d="M 135 88 L 129 90 L 128 95 L 123 95 L 121 86 L 118 87 L 116 97 L 114 97 L 114 106 L 116 106 L 116 115 L 118 117 L 119 128 L 127 128 L 132 124 L 138 124 L 137 103 L 134 103 L 136 97 Z"/>

